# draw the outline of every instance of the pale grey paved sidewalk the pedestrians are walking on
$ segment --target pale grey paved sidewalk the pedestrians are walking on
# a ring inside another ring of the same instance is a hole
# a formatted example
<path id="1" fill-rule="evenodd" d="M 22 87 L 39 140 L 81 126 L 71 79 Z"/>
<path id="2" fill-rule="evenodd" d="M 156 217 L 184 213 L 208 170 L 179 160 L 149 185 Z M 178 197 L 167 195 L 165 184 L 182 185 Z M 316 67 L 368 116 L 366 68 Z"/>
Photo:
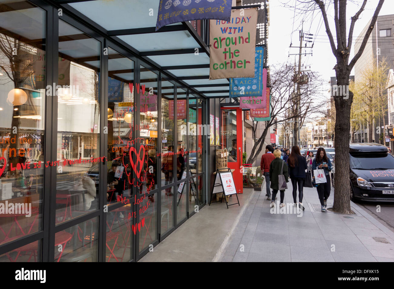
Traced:
<path id="1" fill-rule="evenodd" d="M 304 188 L 306 208 L 297 217 L 271 214 L 265 194 L 265 187 L 252 194 L 218 261 L 394 261 L 394 232 L 357 204 L 351 203 L 355 215 L 321 212 L 316 188 Z M 279 206 L 279 193 L 277 198 Z M 327 208 L 332 207 L 333 198 L 332 188 Z M 292 206 L 291 182 L 284 202 Z"/>

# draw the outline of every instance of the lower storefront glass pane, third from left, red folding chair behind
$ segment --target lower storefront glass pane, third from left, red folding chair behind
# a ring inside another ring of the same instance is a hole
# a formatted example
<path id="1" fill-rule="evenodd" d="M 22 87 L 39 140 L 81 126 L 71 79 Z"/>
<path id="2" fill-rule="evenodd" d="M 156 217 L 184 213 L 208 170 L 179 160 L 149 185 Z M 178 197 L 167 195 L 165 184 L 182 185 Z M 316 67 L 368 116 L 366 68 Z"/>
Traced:
<path id="1" fill-rule="evenodd" d="M 133 257 L 133 236 L 131 232 L 134 214 L 132 215 L 131 201 L 124 202 L 126 203 L 125 206 L 116 208 L 107 214 L 107 262 L 128 262 Z"/>

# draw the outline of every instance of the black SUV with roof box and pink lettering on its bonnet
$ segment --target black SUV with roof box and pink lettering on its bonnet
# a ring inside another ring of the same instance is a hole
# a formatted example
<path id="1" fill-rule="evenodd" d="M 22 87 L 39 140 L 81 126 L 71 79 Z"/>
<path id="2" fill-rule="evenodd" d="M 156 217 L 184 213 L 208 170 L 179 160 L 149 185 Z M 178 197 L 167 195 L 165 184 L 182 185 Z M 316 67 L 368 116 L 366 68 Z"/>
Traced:
<path id="1" fill-rule="evenodd" d="M 349 145 L 351 200 L 394 201 L 394 157 L 375 143 Z"/>

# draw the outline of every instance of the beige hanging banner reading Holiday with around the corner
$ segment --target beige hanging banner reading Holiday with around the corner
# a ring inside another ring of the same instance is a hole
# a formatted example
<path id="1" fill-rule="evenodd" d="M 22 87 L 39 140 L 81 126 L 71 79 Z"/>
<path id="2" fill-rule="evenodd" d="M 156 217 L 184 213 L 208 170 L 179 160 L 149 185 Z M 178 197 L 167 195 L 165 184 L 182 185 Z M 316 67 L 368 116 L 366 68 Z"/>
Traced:
<path id="1" fill-rule="evenodd" d="M 255 77 L 256 23 L 256 8 L 231 10 L 229 22 L 209 20 L 209 79 Z"/>

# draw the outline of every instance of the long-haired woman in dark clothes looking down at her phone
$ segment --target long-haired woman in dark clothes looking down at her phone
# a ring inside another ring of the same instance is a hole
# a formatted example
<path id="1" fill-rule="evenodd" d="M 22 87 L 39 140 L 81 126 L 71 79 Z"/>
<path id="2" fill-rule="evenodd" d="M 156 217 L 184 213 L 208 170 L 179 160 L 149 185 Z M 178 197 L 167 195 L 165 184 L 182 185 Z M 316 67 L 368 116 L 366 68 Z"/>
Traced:
<path id="1" fill-rule="evenodd" d="M 320 204 L 322 205 L 322 212 L 325 212 L 327 208 L 327 199 L 330 196 L 331 191 L 331 179 L 330 179 L 330 171 L 333 169 L 329 158 L 325 153 L 325 149 L 323 147 L 319 147 L 316 153 L 316 157 L 312 161 L 312 170 L 314 169 L 324 169 L 325 179 L 327 182 L 319 184 L 316 188 L 319 195 Z"/>

